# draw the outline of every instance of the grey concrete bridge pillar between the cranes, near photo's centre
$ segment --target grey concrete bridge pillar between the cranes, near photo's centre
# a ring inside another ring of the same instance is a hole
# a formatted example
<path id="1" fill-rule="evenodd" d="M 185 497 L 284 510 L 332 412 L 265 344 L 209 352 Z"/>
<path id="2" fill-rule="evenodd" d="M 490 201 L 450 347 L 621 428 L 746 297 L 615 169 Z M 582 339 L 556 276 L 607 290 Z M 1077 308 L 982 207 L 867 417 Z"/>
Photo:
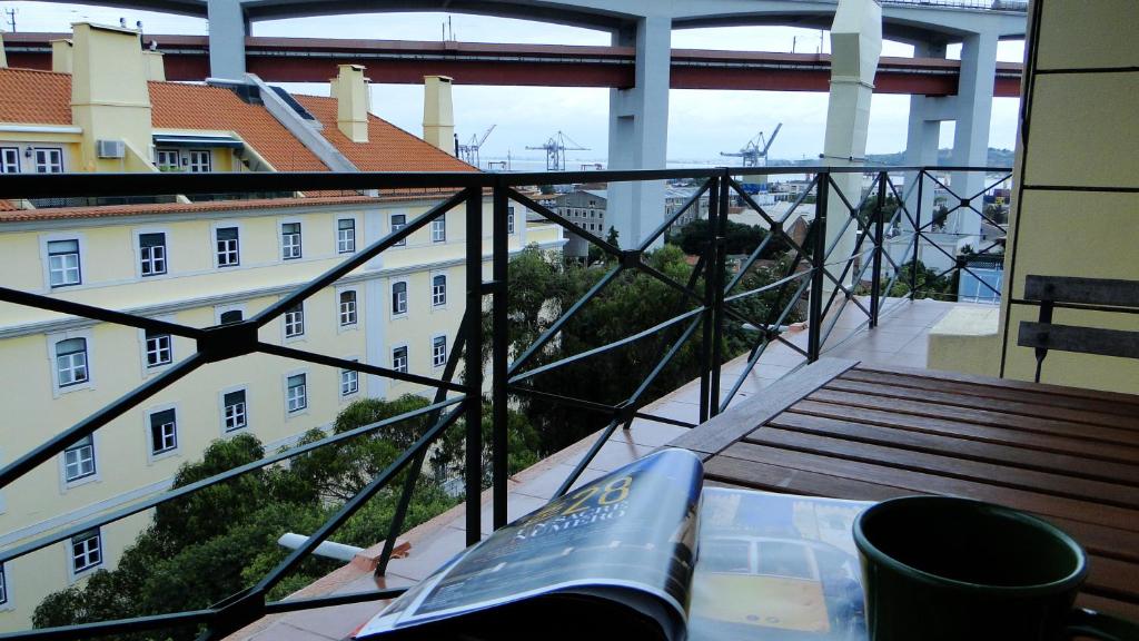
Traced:
<path id="1" fill-rule="evenodd" d="M 637 71 L 634 87 L 609 91 L 608 169 L 664 169 L 672 19 L 640 18 L 615 33 L 613 43 L 637 48 Z M 663 181 L 609 184 L 606 221 L 616 228 L 622 248 L 636 248 L 663 220 Z M 606 234 L 608 229 L 600 236 Z"/>

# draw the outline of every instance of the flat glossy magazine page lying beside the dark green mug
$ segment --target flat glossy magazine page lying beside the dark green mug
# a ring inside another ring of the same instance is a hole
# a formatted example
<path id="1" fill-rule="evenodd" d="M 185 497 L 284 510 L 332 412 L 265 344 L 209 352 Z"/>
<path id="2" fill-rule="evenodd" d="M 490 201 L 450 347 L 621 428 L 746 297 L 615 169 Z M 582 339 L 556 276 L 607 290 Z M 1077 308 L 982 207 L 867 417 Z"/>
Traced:
<path id="1" fill-rule="evenodd" d="M 705 488 L 688 638 L 865 640 L 851 532 L 871 504 Z"/>

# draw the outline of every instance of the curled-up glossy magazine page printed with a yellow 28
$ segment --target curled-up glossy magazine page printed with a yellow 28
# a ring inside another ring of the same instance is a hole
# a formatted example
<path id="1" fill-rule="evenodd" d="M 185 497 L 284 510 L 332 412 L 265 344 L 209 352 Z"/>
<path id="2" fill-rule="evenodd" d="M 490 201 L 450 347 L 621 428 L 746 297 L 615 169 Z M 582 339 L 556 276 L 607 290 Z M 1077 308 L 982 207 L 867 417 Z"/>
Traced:
<path id="1" fill-rule="evenodd" d="M 666 618 L 656 622 L 662 638 L 680 636 L 700 477 L 696 456 L 665 449 L 574 489 L 460 553 L 358 638 L 399 635 L 508 603 L 517 603 L 509 609 L 523 616 L 521 601 L 551 595 L 583 608 L 623 602 L 646 619 Z"/>

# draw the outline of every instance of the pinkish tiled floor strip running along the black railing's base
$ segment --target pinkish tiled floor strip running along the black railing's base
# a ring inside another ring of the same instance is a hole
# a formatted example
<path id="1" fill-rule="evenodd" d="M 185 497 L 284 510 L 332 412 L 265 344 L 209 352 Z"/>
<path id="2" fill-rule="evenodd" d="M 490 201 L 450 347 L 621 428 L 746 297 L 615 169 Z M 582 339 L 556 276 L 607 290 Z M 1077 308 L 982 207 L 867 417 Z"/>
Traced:
<path id="1" fill-rule="evenodd" d="M 925 367 L 926 339 L 929 330 L 957 305 L 932 300 L 913 302 L 890 300 L 884 303 L 882 322 L 872 332 L 866 328 L 866 316 L 861 310 L 849 305 L 835 323 L 830 339 L 823 344 L 823 352 L 827 356 L 853 358 L 870 364 Z M 785 336 L 800 347 L 806 346 L 805 331 Z M 740 386 L 732 403 L 759 393 L 772 381 L 804 364 L 805 358 L 787 346 L 780 343 L 769 346 Z M 722 393 L 727 395 L 745 367 L 746 356 L 723 365 Z M 657 416 L 696 422 L 699 415 L 699 381 L 686 384 L 644 411 Z M 577 482 L 587 482 L 639 459 L 685 431 L 685 428 L 638 419 L 628 431 L 614 432 Z M 596 435 L 590 436 L 513 477 L 508 517 L 515 519 L 542 506 L 573 471 L 574 464 L 595 439 Z M 486 536 L 491 524 L 490 492 L 483 494 L 483 500 L 482 529 L 483 536 Z M 460 505 L 401 537 L 400 541 L 409 542 L 411 547 L 407 557 L 391 561 L 386 577 L 376 578 L 370 570 L 347 565 L 305 587 L 295 597 L 347 594 L 371 591 L 377 586 L 396 587 L 415 584 L 464 549 L 466 539 L 464 525 L 465 509 Z M 375 551 L 378 555 L 379 545 L 369 549 L 370 551 Z M 378 612 L 383 606 L 382 602 L 359 603 L 270 616 L 239 631 L 232 638 L 259 641 L 344 639 Z"/>

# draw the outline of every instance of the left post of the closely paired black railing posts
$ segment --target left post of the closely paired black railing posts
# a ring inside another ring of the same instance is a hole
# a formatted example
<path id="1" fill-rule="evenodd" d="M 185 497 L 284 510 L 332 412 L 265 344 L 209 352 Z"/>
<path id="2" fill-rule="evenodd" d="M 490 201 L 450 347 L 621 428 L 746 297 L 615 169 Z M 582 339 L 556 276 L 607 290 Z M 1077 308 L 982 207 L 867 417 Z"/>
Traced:
<path id="1" fill-rule="evenodd" d="M 478 543 L 482 526 L 483 484 L 483 190 L 469 187 L 467 192 L 467 351 L 462 374 L 467 387 L 465 414 L 466 482 L 467 482 L 467 545 Z"/>

